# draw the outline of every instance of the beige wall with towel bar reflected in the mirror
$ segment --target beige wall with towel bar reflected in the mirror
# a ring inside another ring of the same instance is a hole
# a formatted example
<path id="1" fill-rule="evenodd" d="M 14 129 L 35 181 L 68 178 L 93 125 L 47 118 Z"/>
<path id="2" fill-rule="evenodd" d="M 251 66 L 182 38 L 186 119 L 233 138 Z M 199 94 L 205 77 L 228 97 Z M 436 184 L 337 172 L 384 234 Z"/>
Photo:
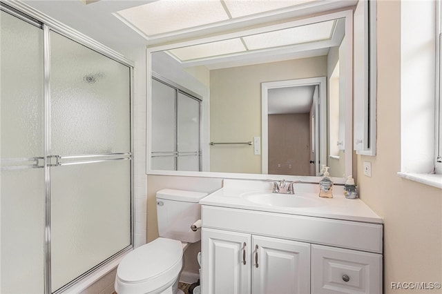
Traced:
<path id="1" fill-rule="evenodd" d="M 327 57 L 211 70 L 210 141 L 253 141 L 261 136 L 261 83 L 327 76 Z M 261 173 L 252 146 L 212 146 L 211 171 Z"/>

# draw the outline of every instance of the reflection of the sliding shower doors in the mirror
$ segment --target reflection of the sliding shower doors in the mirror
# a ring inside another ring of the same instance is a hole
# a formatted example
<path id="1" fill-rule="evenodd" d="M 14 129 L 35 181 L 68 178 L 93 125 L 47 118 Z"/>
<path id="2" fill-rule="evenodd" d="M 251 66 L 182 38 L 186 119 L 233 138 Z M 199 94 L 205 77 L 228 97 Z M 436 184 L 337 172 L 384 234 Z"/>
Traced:
<path id="1" fill-rule="evenodd" d="M 200 99 L 152 79 L 152 160 L 154 170 L 201 170 Z"/>

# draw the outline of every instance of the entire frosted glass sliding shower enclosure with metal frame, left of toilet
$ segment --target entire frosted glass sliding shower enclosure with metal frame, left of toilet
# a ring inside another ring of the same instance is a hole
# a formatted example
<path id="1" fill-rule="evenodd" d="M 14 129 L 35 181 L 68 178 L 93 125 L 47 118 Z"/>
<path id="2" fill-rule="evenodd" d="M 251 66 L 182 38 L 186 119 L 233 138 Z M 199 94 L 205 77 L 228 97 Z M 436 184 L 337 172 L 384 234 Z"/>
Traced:
<path id="1" fill-rule="evenodd" d="M 0 13 L 0 293 L 61 292 L 133 244 L 132 68 Z"/>

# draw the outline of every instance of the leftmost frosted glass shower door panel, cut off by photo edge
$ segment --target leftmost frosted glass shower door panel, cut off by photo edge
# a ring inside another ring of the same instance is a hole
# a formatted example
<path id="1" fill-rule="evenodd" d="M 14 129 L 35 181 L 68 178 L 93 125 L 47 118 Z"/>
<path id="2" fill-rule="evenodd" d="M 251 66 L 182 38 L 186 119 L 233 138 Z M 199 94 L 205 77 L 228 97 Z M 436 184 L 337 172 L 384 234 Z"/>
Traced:
<path id="1" fill-rule="evenodd" d="M 0 13 L 0 293 L 43 293 L 43 30 Z"/>

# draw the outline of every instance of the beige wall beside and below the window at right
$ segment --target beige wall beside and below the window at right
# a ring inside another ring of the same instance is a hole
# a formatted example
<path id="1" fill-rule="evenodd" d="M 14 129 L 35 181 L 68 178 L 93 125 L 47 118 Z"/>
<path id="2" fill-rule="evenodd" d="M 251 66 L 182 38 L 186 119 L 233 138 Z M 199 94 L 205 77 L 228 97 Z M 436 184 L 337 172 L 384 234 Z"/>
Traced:
<path id="1" fill-rule="evenodd" d="M 401 9 L 378 1 L 377 155 L 358 156 L 361 199 L 384 218 L 385 293 L 392 282 L 442 282 L 442 191 L 396 175 L 401 170 Z M 372 177 L 363 175 L 372 162 Z M 440 293 L 426 290 L 425 293 Z"/>

